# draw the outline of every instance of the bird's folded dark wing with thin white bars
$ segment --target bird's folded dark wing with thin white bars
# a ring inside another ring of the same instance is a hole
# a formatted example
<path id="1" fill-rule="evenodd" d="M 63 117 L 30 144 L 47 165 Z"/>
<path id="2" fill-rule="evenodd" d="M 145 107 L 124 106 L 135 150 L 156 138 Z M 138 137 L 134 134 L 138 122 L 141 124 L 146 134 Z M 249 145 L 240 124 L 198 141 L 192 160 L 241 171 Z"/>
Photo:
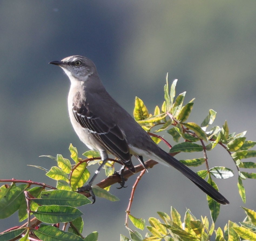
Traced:
<path id="1" fill-rule="evenodd" d="M 103 121 L 99 116 L 94 115 L 85 103 L 79 106 L 73 104 L 73 115 L 82 128 L 88 129 L 106 150 L 135 173 L 125 135 L 118 125 Z"/>

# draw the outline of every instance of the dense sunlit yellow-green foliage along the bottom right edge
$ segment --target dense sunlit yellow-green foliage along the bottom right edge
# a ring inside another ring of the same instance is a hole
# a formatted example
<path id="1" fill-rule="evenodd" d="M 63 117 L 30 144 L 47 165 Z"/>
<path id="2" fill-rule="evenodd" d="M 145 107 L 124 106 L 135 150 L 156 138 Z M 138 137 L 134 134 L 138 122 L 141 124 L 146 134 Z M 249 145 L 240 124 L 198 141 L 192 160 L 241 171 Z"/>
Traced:
<path id="1" fill-rule="evenodd" d="M 133 225 L 144 230 L 146 227 L 149 232 L 145 237 L 132 229 L 129 229 L 130 239 L 121 234 L 120 241 L 231 241 L 231 240 L 256 240 L 256 212 L 243 208 L 246 214 L 244 221 L 238 225 L 228 221 L 222 230 L 220 227 L 215 228 L 214 222 L 209 223 L 208 218 L 201 216 L 197 219 L 189 209 L 187 209 L 183 220 L 177 210 L 171 207 L 170 215 L 164 212 L 157 212 L 160 219 L 149 218 L 148 226 L 145 225 L 144 219 L 130 218 Z"/>

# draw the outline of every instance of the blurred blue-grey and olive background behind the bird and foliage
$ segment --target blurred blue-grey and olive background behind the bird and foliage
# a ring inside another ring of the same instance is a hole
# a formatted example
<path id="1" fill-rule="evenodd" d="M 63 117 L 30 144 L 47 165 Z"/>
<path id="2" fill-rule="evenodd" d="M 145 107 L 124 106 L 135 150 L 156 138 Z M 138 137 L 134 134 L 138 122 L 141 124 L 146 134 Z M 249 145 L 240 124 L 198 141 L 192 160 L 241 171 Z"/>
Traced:
<path id="1" fill-rule="evenodd" d="M 254 0 L 1 1 L 0 6 L 1 179 L 55 185 L 42 170 L 26 165 L 49 169 L 55 162 L 39 156 L 69 158 L 70 143 L 81 157 L 87 150 L 69 121 L 68 77 L 48 64 L 75 54 L 94 61 L 107 91 L 131 114 L 135 96 L 143 99 L 150 112 L 162 104 L 169 72 L 170 83 L 178 78 L 177 94 L 188 91 L 186 102 L 196 98 L 188 121 L 200 124 L 212 108 L 217 111 L 215 125 L 227 120 L 230 132 L 248 130 L 248 140 L 256 139 Z M 180 153 L 176 157 L 199 155 Z M 236 170 L 220 147 L 208 153 L 208 158 L 210 166 Z M 99 240 L 119 240 L 120 233 L 129 236 L 124 218 L 136 176 L 127 181 L 127 188 L 111 188 L 119 202 L 97 198 L 94 205 L 82 208 L 84 235 L 97 230 Z M 233 178 L 216 180 L 230 201 L 221 206 L 216 226 L 223 228 L 228 219 L 242 221 L 245 214 L 240 206 L 256 208 L 255 181 L 244 181 L 244 204 L 237 176 L 235 172 Z M 102 178 L 104 174 L 98 181 Z M 157 165 L 139 183 L 131 214 L 147 220 L 157 217 L 157 211 L 169 214 L 171 205 L 181 215 L 190 208 L 197 218 L 207 215 L 210 219 L 206 195 L 176 170 Z M 0 232 L 15 225 L 17 214 L 8 222 L 0 220 Z"/>

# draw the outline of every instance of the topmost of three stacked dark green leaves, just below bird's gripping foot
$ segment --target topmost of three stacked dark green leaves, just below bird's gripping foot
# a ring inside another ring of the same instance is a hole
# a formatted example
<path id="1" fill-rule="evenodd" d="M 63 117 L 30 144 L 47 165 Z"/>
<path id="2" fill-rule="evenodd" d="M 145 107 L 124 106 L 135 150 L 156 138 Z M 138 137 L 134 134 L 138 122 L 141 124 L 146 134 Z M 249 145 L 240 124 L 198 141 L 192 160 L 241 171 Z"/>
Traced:
<path id="1" fill-rule="evenodd" d="M 84 195 L 64 190 L 52 190 L 42 192 L 41 198 L 32 198 L 34 202 L 40 205 L 60 205 L 79 207 L 89 203 L 92 203 Z"/>

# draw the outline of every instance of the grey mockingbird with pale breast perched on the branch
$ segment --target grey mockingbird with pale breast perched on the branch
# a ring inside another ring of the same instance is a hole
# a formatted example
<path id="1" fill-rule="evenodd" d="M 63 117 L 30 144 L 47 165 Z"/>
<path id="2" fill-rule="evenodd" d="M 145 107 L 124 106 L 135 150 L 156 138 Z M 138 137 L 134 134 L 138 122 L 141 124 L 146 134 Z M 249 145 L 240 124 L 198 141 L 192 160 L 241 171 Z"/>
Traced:
<path id="1" fill-rule="evenodd" d="M 89 149 L 99 151 L 103 161 L 92 180 L 80 191 L 91 189 L 97 173 L 107 162 L 108 154 L 113 154 L 135 173 L 131 161 L 134 155 L 142 163 L 143 156 L 176 168 L 215 201 L 229 203 L 215 188 L 153 142 L 106 91 L 92 60 L 75 55 L 50 64 L 60 66 L 70 79 L 68 111 L 76 134 Z"/>

